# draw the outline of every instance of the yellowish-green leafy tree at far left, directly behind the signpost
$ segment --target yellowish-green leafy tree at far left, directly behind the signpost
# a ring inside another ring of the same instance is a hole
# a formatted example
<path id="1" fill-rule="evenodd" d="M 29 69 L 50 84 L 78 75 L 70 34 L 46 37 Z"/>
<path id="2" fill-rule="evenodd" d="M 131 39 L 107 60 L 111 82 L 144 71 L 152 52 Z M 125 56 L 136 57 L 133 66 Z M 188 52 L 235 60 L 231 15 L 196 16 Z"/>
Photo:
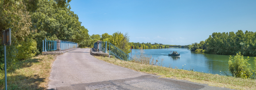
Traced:
<path id="1" fill-rule="evenodd" d="M 31 39 L 31 33 L 34 33 L 30 29 L 31 24 L 31 15 L 27 11 L 27 6 L 23 0 L 0 0 L 0 34 L 8 28 L 11 28 L 12 31 L 12 45 L 6 47 L 8 67 L 14 66 L 18 60 L 24 60 L 35 55 L 34 50 L 37 44 Z M 0 39 L 2 40 L 2 37 Z M 24 46 L 27 48 L 24 48 Z M 1 67 L 3 67 L 3 63 L 3 45 L 1 45 Z"/>

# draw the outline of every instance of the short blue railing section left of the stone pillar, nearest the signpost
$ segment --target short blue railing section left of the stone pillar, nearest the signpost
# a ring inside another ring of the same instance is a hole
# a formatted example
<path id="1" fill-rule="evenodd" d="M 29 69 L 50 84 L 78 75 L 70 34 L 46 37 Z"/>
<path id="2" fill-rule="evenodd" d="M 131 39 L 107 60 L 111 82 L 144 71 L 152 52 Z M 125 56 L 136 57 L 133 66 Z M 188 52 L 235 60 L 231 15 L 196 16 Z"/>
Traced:
<path id="1" fill-rule="evenodd" d="M 55 51 L 57 50 L 57 41 L 43 40 L 43 51 Z"/>

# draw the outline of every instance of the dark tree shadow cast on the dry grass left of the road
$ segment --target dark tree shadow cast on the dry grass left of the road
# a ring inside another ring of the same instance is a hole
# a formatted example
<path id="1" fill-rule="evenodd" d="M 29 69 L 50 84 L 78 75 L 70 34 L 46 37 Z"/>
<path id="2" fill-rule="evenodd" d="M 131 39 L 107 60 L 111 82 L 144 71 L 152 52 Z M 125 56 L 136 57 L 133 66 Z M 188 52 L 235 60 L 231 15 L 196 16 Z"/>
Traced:
<path id="1" fill-rule="evenodd" d="M 7 74 L 11 74 L 11 76 L 8 75 L 7 77 L 7 89 L 8 90 L 46 90 L 45 87 L 39 86 L 40 83 L 45 82 L 46 78 L 40 78 L 39 75 L 30 75 L 26 76 L 24 74 L 15 74 L 18 69 L 28 68 L 31 67 L 34 63 L 38 63 L 43 61 L 42 59 L 38 58 L 30 58 L 24 61 L 19 61 L 13 66 L 7 67 Z M 24 71 L 27 72 L 27 71 Z M 5 78 L 4 78 L 4 70 L 0 72 L 0 76 L 2 79 L 0 79 L 0 90 L 4 89 L 5 87 Z"/>

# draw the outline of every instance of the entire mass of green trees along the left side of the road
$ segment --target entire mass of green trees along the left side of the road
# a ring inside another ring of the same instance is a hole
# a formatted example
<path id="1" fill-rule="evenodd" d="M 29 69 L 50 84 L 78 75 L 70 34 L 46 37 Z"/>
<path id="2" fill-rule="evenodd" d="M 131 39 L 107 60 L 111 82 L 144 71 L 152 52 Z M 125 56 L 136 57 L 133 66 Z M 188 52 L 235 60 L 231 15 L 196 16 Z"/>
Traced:
<path id="1" fill-rule="evenodd" d="M 12 30 L 12 45 L 6 47 L 7 67 L 14 66 L 19 60 L 41 54 L 42 40 L 45 38 L 79 44 L 88 41 L 88 30 L 81 26 L 78 16 L 70 11 L 70 1 L 0 0 L 0 31 L 8 28 Z M 1 45 L 1 70 L 3 63 Z"/>

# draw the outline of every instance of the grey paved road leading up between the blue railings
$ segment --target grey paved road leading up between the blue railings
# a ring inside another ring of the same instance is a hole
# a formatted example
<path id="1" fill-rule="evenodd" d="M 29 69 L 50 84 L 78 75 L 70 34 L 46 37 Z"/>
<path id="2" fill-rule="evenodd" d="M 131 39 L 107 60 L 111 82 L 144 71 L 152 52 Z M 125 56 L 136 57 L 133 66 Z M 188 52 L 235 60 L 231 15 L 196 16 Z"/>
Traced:
<path id="1" fill-rule="evenodd" d="M 136 72 L 94 58 L 89 48 L 59 55 L 49 79 L 49 90 L 229 90 Z"/>

